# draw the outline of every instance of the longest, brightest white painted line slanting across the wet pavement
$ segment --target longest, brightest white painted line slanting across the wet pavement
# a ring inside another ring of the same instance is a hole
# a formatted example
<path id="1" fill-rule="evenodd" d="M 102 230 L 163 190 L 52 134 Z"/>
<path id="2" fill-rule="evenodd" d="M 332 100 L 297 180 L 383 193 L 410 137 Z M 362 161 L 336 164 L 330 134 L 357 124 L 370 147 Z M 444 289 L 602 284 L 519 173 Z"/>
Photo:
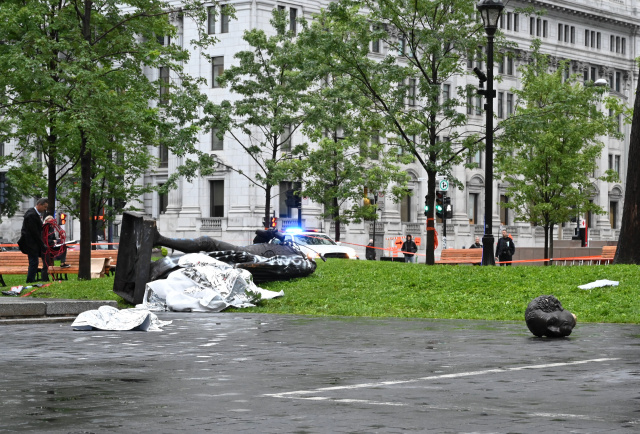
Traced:
<path id="1" fill-rule="evenodd" d="M 544 365 L 525 365 L 525 366 L 517 366 L 514 368 L 485 369 L 482 371 L 469 371 L 469 372 L 458 372 L 455 374 L 431 375 L 428 377 L 413 378 L 409 380 L 380 381 L 377 383 L 361 383 L 361 384 L 352 384 L 347 386 L 321 387 L 313 390 L 294 390 L 291 392 L 268 393 L 268 394 L 265 394 L 264 396 L 270 396 L 273 398 L 301 399 L 302 397 L 299 395 L 309 395 L 314 393 L 330 392 L 330 391 L 336 391 L 336 390 L 355 390 L 355 389 L 366 389 L 366 388 L 381 387 L 381 386 L 394 386 L 397 384 L 409 384 L 409 383 L 416 383 L 419 381 L 472 377 L 472 376 L 478 376 L 478 375 L 496 374 L 499 372 L 522 371 L 525 369 L 557 368 L 562 366 L 583 365 L 585 363 L 609 362 L 613 360 L 619 360 L 619 358 L 601 358 L 601 359 L 577 360 L 574 362 L 546 363 Z"/>

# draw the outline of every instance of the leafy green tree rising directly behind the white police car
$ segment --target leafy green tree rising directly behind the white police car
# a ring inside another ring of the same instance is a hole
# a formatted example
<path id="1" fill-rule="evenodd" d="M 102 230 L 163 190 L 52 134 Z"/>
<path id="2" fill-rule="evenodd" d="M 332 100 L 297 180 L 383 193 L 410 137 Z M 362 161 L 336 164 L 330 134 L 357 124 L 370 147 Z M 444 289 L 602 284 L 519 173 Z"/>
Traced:
<path id="1" fill-rule="evenodd" d="M 303 107 L 303 131 L 312 145 L 304 150 L 301 194 L 324 205 L 323 216 L 335 222 L 339 241 L 340 223 L 375 219 L 377 209 L 368 193 L 386 191 L 393 182 L 397 198 L 405 194 L 407 175 L 397 164 L 398 153 L 384 152 L 383 119 L 372 110 L 371 100 L 358 92 L 350 76 L 332 73 L 308 36 L 303 32 L 298 38 L 305 47 L 302 70 L 313 74 L 316 86 Z"/>

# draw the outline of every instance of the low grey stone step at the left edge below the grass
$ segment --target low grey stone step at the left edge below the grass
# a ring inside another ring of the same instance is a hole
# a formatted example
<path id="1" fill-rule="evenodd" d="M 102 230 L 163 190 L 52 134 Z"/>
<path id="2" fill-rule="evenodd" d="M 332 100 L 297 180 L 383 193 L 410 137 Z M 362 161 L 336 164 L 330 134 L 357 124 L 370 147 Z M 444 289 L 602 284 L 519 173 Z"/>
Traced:
<path id="1" fill-rule="evenodd" d="M 0 325 L 70 322 L 84 311 L 105 305 L 118 307 L 115 300 L 65 300 L 1 295 Z"/>

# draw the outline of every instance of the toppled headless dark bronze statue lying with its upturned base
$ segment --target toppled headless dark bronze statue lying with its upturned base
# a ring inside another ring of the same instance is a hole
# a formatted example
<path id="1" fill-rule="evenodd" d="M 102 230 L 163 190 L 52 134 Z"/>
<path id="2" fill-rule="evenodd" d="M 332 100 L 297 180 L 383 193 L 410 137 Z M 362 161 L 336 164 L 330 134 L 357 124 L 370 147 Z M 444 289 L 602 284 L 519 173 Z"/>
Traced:
<path id="1" fill-rule="evenodd" d="M 256 282 L 305 277 L 313 273 L 316 263 L 295 246 L 268 243 L 271 238 L 283 238 L 277 231 L 256 231 L 260 244 L 236 246 L 210 237 L 167 238 L 158 232 L 156 222 L 141 215 L 125 212 L 118 248 L 118 268 L 113 292 L 130 303 L 140 304 L 147 282 L 166 276 L 176 268 L 170 259 L 153 264 L 151 250 L 168 247 L 184 253 L 205 252 L 222 262 L 251 272 Z"/>

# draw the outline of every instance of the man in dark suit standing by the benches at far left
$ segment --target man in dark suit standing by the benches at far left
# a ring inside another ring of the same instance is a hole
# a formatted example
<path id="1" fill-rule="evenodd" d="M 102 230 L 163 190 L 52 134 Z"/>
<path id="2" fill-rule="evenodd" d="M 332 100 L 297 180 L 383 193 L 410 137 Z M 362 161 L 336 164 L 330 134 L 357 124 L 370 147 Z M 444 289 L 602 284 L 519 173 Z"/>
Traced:
<path id="1" fill-rule="evenodd" d="M 35 207 L 29 208 L 24 213 L 18 247 L 29 258 L 27 283 L 36 281 L 39 260 L 45 251 L 44 241 L 42 240 L 42 219 L 48 207 L 49 201 L 47 199 L 39 199 Z"/>

